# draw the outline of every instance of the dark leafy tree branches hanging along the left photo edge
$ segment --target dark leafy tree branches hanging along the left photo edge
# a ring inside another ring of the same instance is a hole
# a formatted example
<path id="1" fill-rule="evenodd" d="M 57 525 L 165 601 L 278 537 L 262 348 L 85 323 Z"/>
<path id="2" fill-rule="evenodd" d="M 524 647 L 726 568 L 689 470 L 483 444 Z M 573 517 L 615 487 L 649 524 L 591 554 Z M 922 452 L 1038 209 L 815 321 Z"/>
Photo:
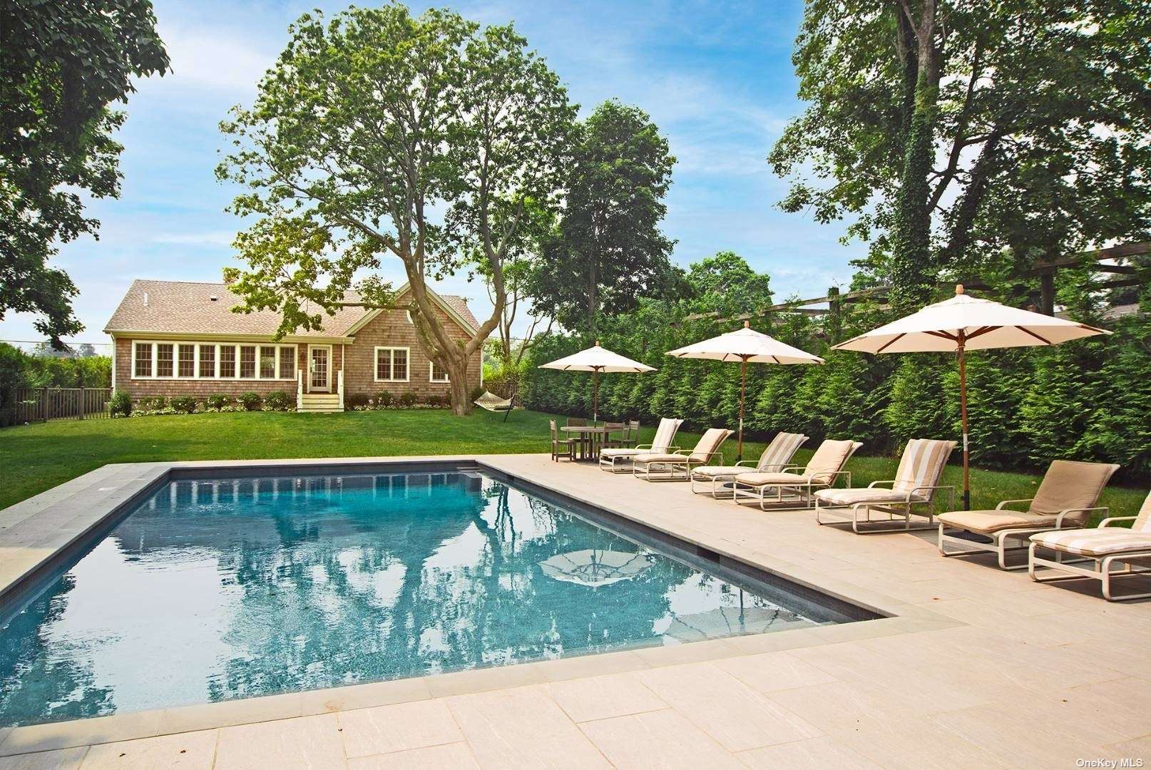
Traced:
<path id="1" fill-rule="evenodd" d="M 134 77 L 168 68 L 148 0 L 0 3 L 0 320 L 37 313 L 55 346 L 84 327 L 76 287 L 48 266 L 60 243 L 97 237 L 82 195 L 120 195 L 112 137 Z"/>

